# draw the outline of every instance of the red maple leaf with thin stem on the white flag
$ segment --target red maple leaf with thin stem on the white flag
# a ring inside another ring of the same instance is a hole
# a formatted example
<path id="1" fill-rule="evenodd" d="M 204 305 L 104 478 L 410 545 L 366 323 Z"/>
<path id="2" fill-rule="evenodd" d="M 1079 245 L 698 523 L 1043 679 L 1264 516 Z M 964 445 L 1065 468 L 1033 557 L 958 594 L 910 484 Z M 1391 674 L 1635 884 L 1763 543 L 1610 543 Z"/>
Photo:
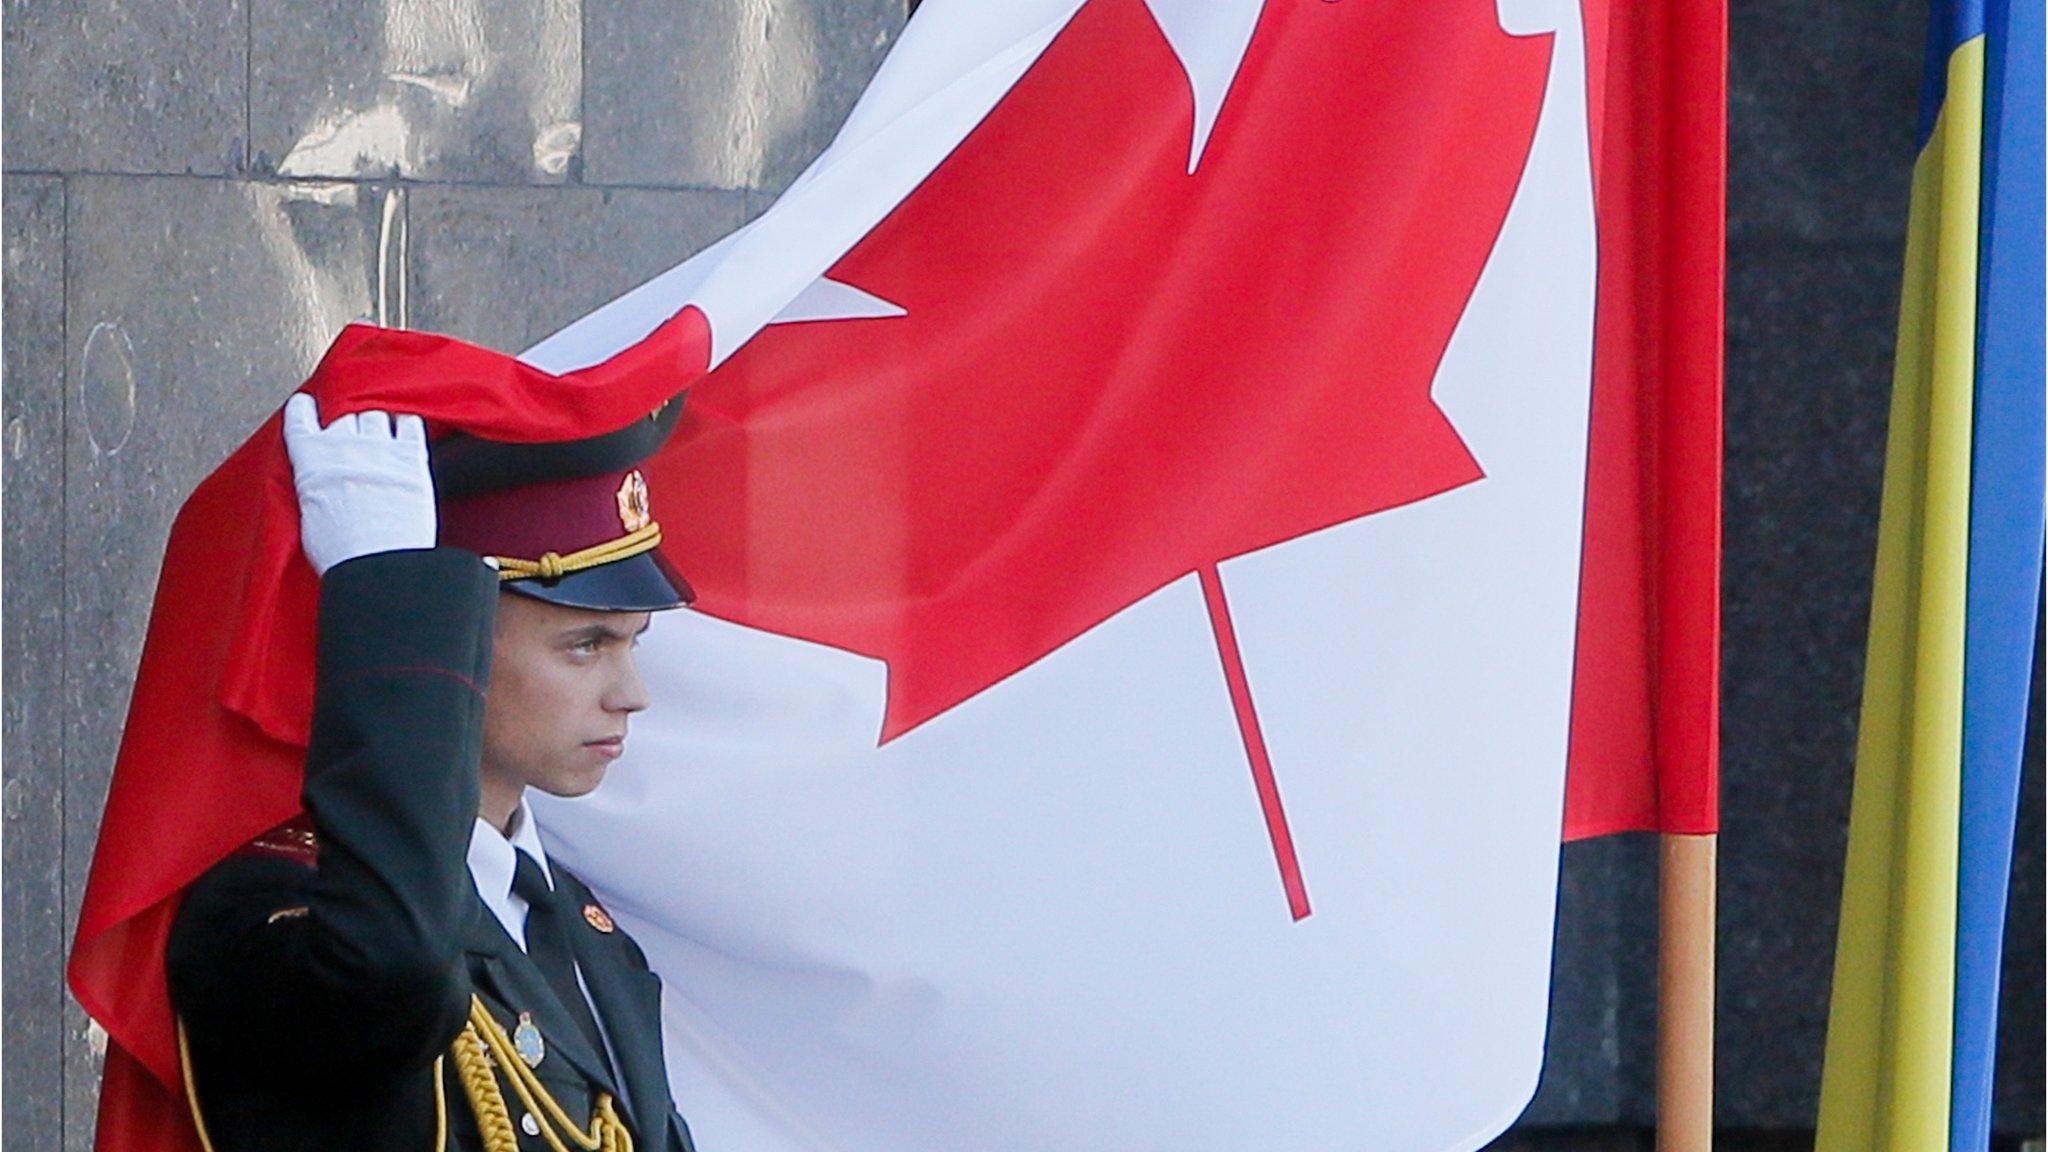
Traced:
<path id="1" fill-rule="evenodd" d="M 1190 174 L 1171 45 L 1085 6 L 831 271 L 905 316 L 694 389 L 655 484 L 700 607 L 885 660 L 889 740 L 1198 572 L 1260 765 L 1214 566 L 1481 476 L 1430 381 L 1548 53 L 1491 0 L 1268 4 Z"/>

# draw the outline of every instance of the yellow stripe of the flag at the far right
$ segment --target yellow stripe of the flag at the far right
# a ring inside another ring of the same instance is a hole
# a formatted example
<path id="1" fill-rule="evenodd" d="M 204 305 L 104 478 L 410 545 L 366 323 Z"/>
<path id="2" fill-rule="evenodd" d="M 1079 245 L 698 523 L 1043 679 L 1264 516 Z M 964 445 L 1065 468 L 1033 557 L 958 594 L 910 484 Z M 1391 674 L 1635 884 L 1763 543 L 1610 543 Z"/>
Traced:
<path id="1" fill-rule="evenodd" d="M 1948 1148 L 1985 39 L 1913 170 L 1817 1152 Z"/>

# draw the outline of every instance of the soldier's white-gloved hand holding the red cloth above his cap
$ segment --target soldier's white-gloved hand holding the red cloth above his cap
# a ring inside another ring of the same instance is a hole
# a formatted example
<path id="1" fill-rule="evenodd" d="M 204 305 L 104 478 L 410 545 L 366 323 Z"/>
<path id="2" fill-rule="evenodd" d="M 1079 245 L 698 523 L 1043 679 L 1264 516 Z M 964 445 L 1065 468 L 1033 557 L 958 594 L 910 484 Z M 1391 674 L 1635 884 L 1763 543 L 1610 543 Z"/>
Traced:
<path id="1" fill-rule="evenodd" d="M 307 394 L 285 402 L 285 453 L 299 490 L 299 543 L 313 572 L 373 551 L 434 547 L 434 478 L 426 424 L 385 412 L 319 426 Z"/>

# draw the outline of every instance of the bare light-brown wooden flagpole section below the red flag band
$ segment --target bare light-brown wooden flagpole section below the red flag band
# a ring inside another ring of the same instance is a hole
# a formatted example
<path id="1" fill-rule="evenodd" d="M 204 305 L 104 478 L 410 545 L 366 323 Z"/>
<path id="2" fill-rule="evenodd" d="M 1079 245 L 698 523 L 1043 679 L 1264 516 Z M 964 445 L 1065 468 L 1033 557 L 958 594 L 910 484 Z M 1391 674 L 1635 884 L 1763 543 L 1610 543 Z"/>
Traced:
<path id="1" fill-rule="evenodd" d="M 1718 836 L 1661 836 L 1657 1152 L 1714 1148 L 1714 867 Z"/>

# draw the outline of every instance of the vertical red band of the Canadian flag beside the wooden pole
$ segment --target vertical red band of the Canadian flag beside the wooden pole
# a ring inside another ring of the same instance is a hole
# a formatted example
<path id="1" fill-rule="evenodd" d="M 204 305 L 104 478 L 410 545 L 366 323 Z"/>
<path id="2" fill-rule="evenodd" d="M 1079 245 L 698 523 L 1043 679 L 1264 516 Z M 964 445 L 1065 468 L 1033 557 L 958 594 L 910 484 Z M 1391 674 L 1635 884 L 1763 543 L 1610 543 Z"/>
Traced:
<path id="1" fill-rule="evenodd" d="M 1720 828 L 1722 4 L 1587 6 L 1599 195 L 1565 838 Z"/>

